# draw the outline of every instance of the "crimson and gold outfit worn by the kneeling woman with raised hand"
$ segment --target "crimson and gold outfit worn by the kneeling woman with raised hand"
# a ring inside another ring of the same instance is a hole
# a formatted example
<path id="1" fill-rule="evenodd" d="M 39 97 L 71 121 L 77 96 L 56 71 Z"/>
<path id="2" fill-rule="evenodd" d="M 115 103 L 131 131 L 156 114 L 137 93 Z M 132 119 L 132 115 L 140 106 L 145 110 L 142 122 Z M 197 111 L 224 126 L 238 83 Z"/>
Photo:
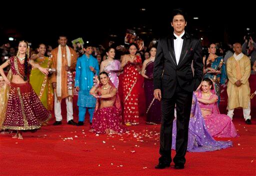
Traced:
<path id="1" fill-rule="evenodd" d="M 110 93 L 114 84 L 109 80 Z M 102 84 L 97 87 L 97 95 L 101 95 Z M 100 108 L 100 102 L 104 101 L 107 105 Z M 96 133 L 122 133 L 126 131 L 125 127 L 121 126 L 121 104 L 118 92 L 110 98 L 97 98 L 96 107 L 92 117 L 92 130 Z"/>

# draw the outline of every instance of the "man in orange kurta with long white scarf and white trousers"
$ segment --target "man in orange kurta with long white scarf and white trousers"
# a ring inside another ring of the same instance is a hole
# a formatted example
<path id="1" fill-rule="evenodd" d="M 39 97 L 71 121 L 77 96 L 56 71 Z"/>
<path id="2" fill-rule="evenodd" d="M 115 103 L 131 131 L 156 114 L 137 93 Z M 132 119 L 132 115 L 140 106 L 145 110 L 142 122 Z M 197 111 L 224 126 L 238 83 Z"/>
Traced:
<path id="1" fill-rule="evenodd" d="M 76 125 L 73 121 L 73 81 L 67 82 L 68 72 L 75 69 L 76 53 L 66 45 L 66 36 L 59 36 L 59 45 L 51 51 L 52 54 L 52 67 L 56 68 L 56 72 L 52 74 L 51 82 L 54 88 L 54 114 L 56 121 L 53 125 L 61 124 L 61 99 L 65 98 L 66 101 L 66 120 L 68 124 Z"/>

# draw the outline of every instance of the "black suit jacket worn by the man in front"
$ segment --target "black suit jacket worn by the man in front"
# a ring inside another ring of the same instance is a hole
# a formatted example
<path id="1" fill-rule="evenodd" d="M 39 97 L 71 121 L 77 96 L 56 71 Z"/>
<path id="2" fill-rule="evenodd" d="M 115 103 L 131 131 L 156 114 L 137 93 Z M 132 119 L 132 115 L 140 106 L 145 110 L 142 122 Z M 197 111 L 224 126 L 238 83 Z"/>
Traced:
<path id="1" fill-rule="evenodd" d="M 184 33 L 179 62 L 176 63 L 174 35 L 158 40 L 154 60 L 154 89 L 161 89 L 162 98 L 171 98 L 178 83 L 186 91 L 194 91 L 202 80 L 202 47 L 198 39 Z M 191 69 L 193 61 L 194 75 Z"/>

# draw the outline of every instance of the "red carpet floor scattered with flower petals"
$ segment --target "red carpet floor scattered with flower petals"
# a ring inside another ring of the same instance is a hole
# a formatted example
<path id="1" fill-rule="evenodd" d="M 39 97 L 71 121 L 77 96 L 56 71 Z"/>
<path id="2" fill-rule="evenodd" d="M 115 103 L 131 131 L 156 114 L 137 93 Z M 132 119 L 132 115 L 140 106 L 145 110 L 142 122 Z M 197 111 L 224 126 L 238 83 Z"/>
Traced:
<path id="1" fill-rule="evenodd" d="M 88 132 L 85 126 L 63 124 L 42 127 L 35 133 L 0 137 L 0 175 L 255 175 L 256 121 L 245 125 L 234 118 L 240 137 L 233 147 L 211 152 L 187 152 L 185 169 L 154 169 L 158 159 L 159 126 L 131 126 L 129 134 Z M 75 119 L 76 120 L 76 119 Z M 77 137 L 76 137 L 77 136 Z M 72 139 L 65 139 L 72 137 Z M 225 140 L 228 140 L 225 138 Z M 172 152 L 172 157 L 175 151 Z"/>

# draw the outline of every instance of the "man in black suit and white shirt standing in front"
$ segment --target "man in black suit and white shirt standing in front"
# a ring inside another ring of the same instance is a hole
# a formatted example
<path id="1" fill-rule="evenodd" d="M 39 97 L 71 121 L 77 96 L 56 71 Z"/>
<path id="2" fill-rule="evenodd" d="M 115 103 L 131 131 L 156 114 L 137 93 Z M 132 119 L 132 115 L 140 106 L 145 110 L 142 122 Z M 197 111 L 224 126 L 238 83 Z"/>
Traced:
<path id="1" fill-rule="evenodd" d="M 201 82 L 203 62 L 200 41 L 184 31 L 185 13 L 181 9 L 174 9 L 171 17 L 174 32 L 171 36 L 158 40 L 154 61 L 154 97 L 161 101 L 162 114 L 161 156 L 155 168 L 165 168 L 171 162 L 172 121 L 176 104 L 176 155 L 173 161 L 174 168 L 181 169 L 185 163 L 192 92 Z"/>

